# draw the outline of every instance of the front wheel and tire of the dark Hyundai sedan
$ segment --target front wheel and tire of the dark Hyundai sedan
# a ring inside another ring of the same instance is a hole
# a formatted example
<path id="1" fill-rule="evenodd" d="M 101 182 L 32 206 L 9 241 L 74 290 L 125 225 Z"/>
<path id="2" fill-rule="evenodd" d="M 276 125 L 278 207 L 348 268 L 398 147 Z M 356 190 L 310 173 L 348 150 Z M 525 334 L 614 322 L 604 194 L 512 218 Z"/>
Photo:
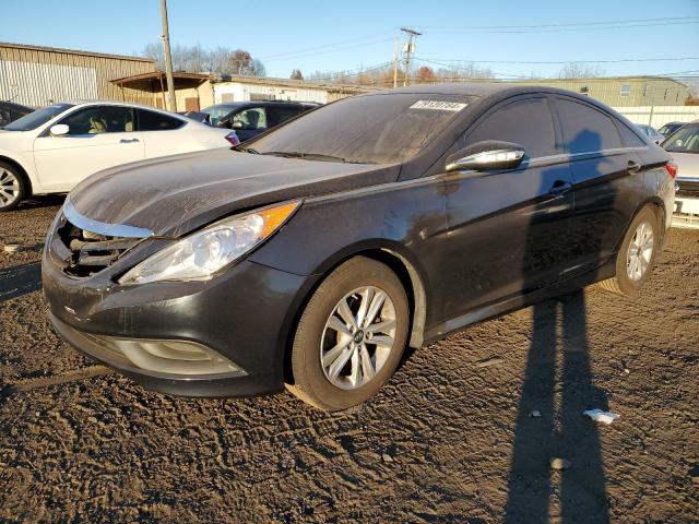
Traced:
<path id="1" fill-rule="evenodd" d="M 321 283 L 301 314 L 287 389 L 329 412 L 362 404 L 395 371 L 408 327 L 407 296 L 395 273 L 365 257 L 351 259 Z"/>

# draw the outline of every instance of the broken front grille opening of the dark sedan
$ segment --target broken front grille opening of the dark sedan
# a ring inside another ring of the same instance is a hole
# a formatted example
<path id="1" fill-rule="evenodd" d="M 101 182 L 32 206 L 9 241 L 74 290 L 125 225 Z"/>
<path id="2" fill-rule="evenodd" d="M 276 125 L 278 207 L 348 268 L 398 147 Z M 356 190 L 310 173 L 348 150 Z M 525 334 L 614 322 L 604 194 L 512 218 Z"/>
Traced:
<path id="1" fill-rule="evenodd" d="M 86 277 L 100 272 L 141 240 L 87 231 L 66 218 L 61 222 L 55 238 L 70 252 L 63 272 L 71 276 Z"/>

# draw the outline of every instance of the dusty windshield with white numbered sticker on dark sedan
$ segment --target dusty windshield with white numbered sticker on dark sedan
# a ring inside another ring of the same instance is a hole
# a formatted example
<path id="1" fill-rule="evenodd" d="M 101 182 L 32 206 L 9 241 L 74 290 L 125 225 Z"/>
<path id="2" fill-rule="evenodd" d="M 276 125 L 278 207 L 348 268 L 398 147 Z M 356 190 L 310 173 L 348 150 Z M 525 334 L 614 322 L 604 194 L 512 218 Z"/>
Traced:
<path id="1" fill-rule="evenodd" d="M 419 152 L 472 96 L 377 94 L 344 98 L 246 143 L 261 154 L 366 164 L 404 162 Z"/>

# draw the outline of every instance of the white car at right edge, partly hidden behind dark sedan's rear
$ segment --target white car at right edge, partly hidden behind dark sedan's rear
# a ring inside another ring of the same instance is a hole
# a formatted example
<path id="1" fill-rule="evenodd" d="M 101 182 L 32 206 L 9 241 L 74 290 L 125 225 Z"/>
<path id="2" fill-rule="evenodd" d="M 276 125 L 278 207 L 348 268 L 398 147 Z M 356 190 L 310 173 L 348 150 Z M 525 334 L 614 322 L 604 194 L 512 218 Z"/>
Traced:
<path id="1" fill-rule="evenodd" d="M 662 146 L 677 163 L 675 213 L 680 219 L 699 225 L 699 120 L 685 123 Z"/>

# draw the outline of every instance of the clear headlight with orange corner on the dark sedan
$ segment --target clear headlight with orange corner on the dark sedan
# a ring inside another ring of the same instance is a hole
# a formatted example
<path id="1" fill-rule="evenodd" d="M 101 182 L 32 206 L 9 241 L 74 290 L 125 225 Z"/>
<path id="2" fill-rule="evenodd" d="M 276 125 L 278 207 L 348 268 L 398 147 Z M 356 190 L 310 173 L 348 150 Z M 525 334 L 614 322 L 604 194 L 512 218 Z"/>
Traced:
<path id="1" fill-rule="evenodd" d="M 145 259 L 119 278 L 119 284 L 209 279 L 272 235 L 299 204 L 291 202 L 217 222 Z"/>

